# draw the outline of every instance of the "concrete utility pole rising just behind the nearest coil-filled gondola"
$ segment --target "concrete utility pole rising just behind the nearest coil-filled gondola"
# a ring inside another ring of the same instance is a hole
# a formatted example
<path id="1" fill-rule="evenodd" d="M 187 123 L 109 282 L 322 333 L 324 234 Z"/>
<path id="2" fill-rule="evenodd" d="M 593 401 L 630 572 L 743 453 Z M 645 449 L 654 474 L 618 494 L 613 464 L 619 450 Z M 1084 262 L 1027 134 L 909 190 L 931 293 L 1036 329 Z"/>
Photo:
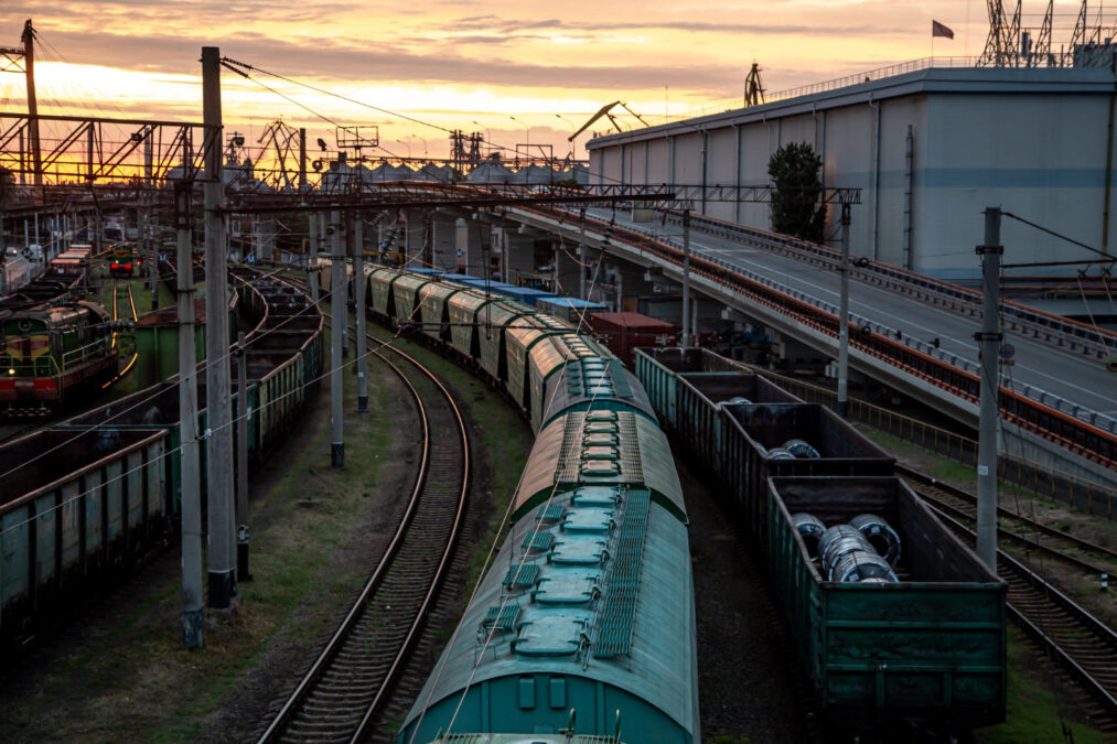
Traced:
<path id="1" fill-rule="evenodd" d="M 977 437 L 977 556 L 996 573 L 996 429 L 1000 423 L 997 362 L 1001 356 L 1001 208 L 985 208 L 982 257 L 982 326 L 974 337 L 981 347 L 981 413 Z"/>

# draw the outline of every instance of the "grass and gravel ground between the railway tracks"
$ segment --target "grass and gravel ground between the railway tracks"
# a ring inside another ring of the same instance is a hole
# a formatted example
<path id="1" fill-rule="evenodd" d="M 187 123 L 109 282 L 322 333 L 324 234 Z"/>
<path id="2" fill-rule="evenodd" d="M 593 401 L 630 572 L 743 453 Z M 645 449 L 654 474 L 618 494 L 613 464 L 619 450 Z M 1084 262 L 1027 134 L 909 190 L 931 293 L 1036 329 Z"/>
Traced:
<path id="1" fill-rule="evenodd" d="M 388 337 L 375 326 L 370 330 Z M 400 345 L 447 381 L 470 422 L 477 469 L 464 547 L 471 559 L 468 575 L 449 582 L 468 588 L 504 521 L 531 431 L 484 382 L 421 346 Z M 349 373 L 344 378 L 344 470 L 328 465 L 327 378 L 302 426 L 256 476 L 254 581 L 240 584 L 236 613 L 207 618 L 206 649 L 187 651 L 180 643 L 181 575 L 173 547 L 98 600 L 85 620 L 68 623 L 3 667 L 0 740 L 255 741 L 347 608 L 411 487 L 410 445 L 393 436 L 405 429 L 411 409 L 386 366 L 370 360 L 369 369 L 369 416 L 352 412 L 356 381 Z M 862 430 L 900 461 L 966 485 L 961 466 Z M 810 724 L 795 700 L 805 683 L 794 671 L 790 641 L 771 630 L 779 613 L 763 571 L 717 513 L 697 474 L 680 464 L 680 475 L 691 511 L 704 738 L 802 741 Z M 1117 544 L 1113 525 L 1043 499 L 1035 505 L 1052 522 Z M 456 601 L 464 608 L 465 600 Z M 1113 595 L 1096 588 L 1089 607 L 1108 608 L 1102 617 L 1110 623 L 1117 617 Z M 439 642 L 451 631 L 435 630 Z M 436 658 L 437 651 L 419 662 L 432 666 Z M 1011 627 L 1009 659 L 1009 722 L 977 732 L 980 744 L 1065 741 L 1063 724 L 1071 726 L 1076 744 L 1106 741 L 1062 693 L 1054 665 Z"/>

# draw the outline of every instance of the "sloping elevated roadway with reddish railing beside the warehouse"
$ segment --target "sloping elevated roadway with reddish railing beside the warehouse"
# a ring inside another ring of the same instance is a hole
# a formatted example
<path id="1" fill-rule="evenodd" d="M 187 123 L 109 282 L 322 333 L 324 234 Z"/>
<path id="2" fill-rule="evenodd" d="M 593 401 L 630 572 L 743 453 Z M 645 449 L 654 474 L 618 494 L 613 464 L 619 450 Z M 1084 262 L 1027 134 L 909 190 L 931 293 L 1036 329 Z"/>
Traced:
<path id="1" fill-rule="evenodd" d="M 576 216 L 540 209 L 515 209 L 509 217 L 562 236 L 569 245 L 584 240 L 591 256 L 604 244 L 615 258 L 659 267 L 676 283 L 681 279 L 681 230 L 670 222 L 638 223 L 628 213 L 614 216 L 609 210 L 589 210 L 584 226 Z M 780 249 L 781 236 L 726 237 L 709 225 L 706 228 L 720 235 L 691 230 L 691 282 L 697 293 L 837 357 L 839 277 L 832 259 L 794 257 L 795 251 Z M 858 279 L 855 274 L 851 278 L 850 322 L 856 327 L 850 365 L 975 428 L 973 334 L 981 324 L 980 301 L 973 293 L 935 287 L 930 280 L 929 288 L 919 288 L 925 279 L 911 277 L 894 282 L 880 276 Z M 858 333 L 862 326 L 870 333 Z M 1104 360 L 1117 351 L 1113 335 L 1019 307 L 1005 311 L 1005 330 L 1016 353 L 1015 363 L 1003 368 L 1002 450 L 1111 483 L 1117 375 L 1106 372 Z"/>

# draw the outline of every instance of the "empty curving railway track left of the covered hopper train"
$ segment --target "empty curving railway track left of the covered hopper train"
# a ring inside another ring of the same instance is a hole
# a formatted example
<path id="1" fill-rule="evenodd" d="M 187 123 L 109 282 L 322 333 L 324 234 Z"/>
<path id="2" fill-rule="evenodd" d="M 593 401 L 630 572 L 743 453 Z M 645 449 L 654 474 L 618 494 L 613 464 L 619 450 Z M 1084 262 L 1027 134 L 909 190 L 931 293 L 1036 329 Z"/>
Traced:
<path id="1" fill-rule="evenodd" d="M 469 448 L 446 388 L 405 353 L 367 338 L 403 379 L 423 422 L 414 490 L 395 535 L 356 602 L 260 737 L 264 742 L 349 742 L 373 733 L 449 570 L 462 526 Z M 394 354 L 408 374 L 388 359 Z"/>

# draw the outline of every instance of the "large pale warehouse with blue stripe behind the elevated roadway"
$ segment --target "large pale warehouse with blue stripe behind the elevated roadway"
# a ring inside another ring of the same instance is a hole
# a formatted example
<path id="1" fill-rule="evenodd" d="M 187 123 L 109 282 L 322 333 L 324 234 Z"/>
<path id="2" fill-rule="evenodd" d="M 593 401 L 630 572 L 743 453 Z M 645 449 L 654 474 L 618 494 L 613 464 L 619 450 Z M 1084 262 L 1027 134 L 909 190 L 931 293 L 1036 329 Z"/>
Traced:
<path id="1" fill-rule="evenodd" d="M 620 134 L 586 145 L 591 183 L 763 185 L 781 145 L 806 142 L 823 185 L 861 189 L 855 255 L 946 279 L 980 275 L 982 211 L 1008 212 L 1111 252 L 1115 75 L 1105 67 L 930 67 Z M 824 88 L 828 86 L 817 86 Z M 1109 178 L 1107 178 L 1109 175 Z M 766 203 L 694 203 L 770 227 Z M 831 207 L 828 236 L 838 237 Z M 1014 220 L 1009 264 L 1091 254 Z M 1079 267 L 1031 269 L 1072 274 Z"/>

